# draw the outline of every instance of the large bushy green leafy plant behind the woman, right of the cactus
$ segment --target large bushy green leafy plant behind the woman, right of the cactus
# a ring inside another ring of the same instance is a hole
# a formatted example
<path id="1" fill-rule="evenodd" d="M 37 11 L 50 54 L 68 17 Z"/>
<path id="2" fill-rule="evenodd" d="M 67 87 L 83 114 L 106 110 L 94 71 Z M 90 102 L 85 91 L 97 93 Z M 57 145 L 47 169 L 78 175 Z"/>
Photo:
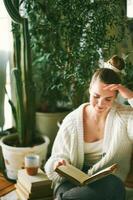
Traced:
<path id="1" fill-rule="evenodd" d="M 121 1 L 26 0 L 25 8 L 37 117 L 45 112 L 49 119 L 51 113 L 72 110 L 86 101 L 86 88 L 101 56 L 100 49 L 103 57 L 108 56 L 107 52 L 111 55 L 114 44 L 123 36 Z M 37 121 L 45 134 L 49 134 L 47 123 Z M 50 134 L 55 137 L 56 132 Z"/>

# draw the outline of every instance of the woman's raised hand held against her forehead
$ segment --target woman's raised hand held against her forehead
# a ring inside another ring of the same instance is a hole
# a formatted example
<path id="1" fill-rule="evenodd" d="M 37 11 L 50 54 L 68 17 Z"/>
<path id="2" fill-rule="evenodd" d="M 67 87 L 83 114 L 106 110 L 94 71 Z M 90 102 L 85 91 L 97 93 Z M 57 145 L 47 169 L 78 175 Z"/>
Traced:
<path id="1" fill-rule="evenodd" d="M 125 86 L 121 84 L 109 84 L 105 85 L 104 90 L 111 90 L 111 91 L 118 91 L 121 96 L 125 99 L 131 99 L 133 98 L 133 91 L 126 88 Z"/>

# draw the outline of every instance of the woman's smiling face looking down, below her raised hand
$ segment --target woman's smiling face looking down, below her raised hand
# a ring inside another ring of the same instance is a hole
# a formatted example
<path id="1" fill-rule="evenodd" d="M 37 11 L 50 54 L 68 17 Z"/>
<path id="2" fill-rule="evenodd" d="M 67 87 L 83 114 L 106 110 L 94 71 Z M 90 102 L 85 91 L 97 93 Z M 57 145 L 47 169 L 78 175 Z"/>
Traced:
<path id="1" fill-rule="evenodd" d="M 116 98 L 116 91 L 104 90 L 105 86 L 97 79 L 90 87 L 90 105 L 99 114 L 108 112 Z"/>

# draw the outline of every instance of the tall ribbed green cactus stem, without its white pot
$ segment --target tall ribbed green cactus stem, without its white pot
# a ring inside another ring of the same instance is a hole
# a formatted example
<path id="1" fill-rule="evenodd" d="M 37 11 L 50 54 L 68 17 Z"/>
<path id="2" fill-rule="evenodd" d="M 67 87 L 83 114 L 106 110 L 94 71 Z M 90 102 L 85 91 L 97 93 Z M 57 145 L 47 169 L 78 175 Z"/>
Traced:
<path id="1" fill-rule="evenodd" d="M 19 1 L 4 0 L 4 4 L 14 27 L 16 26 L 20 33 L 13 32 L 15 66 L 12 74 L 16 85 L 16 106 L 11 101 L 10 105 L 15 117 L 19 145 L 31 146 L 35 142 L 35 89 L 32 80 L 28 19 L 20 16 Z"/>

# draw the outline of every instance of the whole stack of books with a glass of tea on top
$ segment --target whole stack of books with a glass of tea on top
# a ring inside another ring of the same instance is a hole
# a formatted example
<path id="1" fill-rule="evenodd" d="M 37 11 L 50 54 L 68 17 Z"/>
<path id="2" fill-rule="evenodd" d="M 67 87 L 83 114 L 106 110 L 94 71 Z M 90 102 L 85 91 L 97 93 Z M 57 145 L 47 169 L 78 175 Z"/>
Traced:
<path id="1" fill-rule="evenodd" d="M 26 169 L 19 170 L 15 187 L 17 195 L 21 200 L 53 199 L 51 181 L 41 169 L 38 170 L 35 176 L 28 175 Z"/>

